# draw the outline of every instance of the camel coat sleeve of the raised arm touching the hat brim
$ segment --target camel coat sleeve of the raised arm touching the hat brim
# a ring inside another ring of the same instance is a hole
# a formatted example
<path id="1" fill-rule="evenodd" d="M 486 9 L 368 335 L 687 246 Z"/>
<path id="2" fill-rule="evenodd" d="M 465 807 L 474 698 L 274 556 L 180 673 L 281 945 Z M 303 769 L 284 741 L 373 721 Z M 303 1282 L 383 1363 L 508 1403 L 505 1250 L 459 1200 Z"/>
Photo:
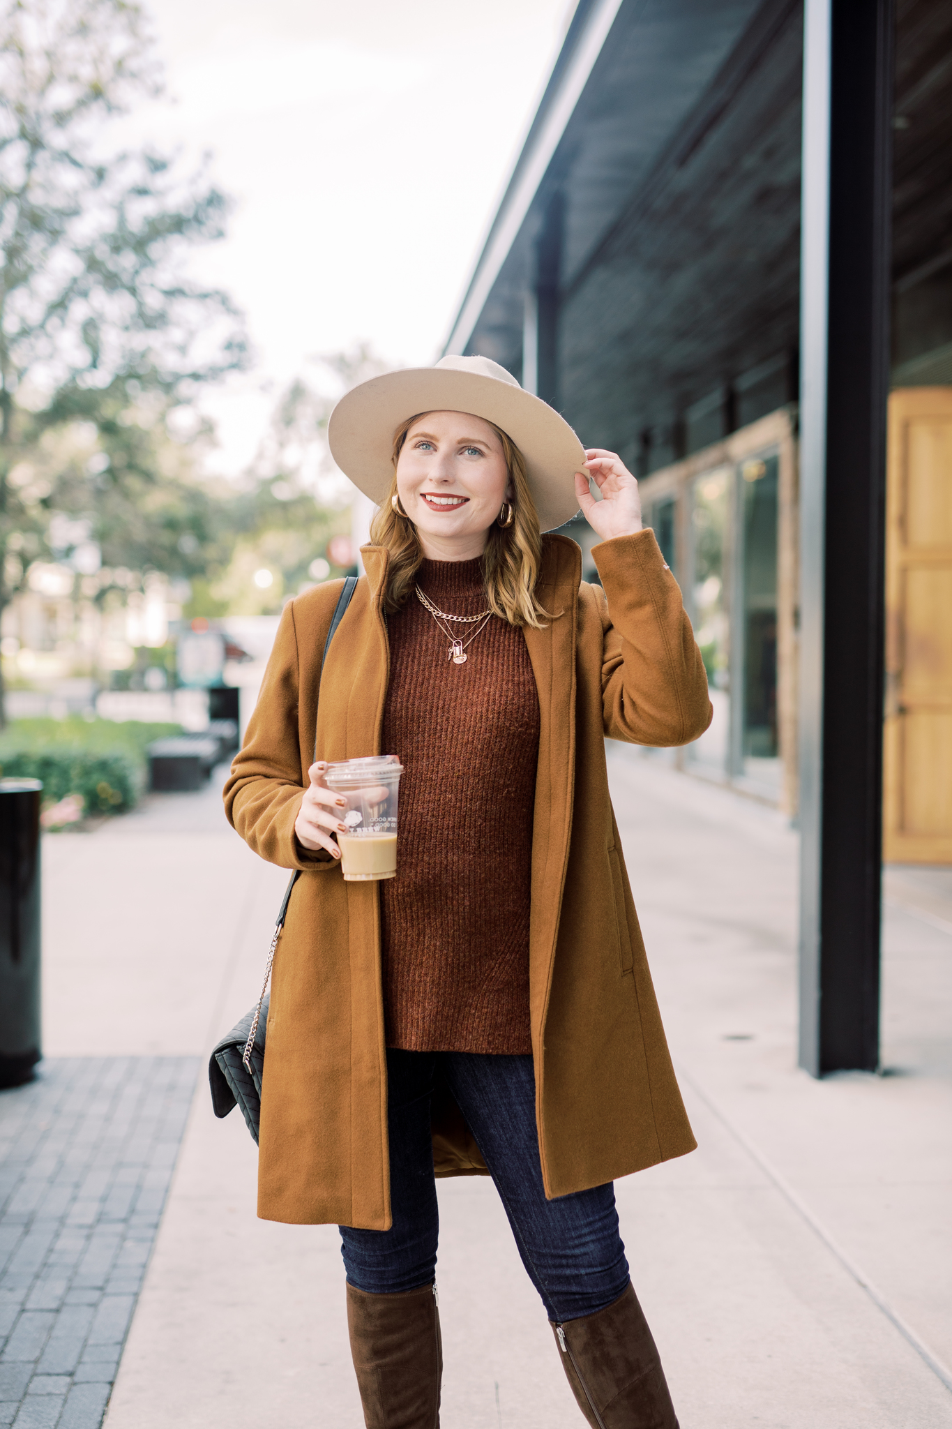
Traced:
<path id="1" fill-rule="evenodd" d="M 602 620 L 605 735 L 632 745 L 688 745 L 712 709 L 708 677 L 652 530 L 592 547 L 602 580 L 594 587 Z"/>

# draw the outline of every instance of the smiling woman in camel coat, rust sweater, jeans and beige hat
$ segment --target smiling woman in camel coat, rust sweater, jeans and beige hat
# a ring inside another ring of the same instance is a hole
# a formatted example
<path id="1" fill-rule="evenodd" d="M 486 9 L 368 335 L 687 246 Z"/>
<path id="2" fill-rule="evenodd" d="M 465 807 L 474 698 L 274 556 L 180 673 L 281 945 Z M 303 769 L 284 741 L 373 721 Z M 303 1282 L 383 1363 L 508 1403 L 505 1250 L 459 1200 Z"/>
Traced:
<path id="1" fill-rule="evenodd" d="M 258 1215 L 340 1225 L 365 1422 L 432 1429 L 434 1173 L 491 1175 L 588 1423 L 672 1429 L 612 1180 L 695 1142 L 604 736 L 707 729 L 681 592 L 621 460 L 484 357 L 364 383 L 330 443 L 380 504 L 367 574 L 323 670 L 340 584 L 285 606 L 226 790 L 248 845 L 305 875 L 274 962 Z M 540 534 L 579 506 L 604 590 Z M 345 883 L 323 772 L 381 752 L 405 770 L 397 877 Z"/>

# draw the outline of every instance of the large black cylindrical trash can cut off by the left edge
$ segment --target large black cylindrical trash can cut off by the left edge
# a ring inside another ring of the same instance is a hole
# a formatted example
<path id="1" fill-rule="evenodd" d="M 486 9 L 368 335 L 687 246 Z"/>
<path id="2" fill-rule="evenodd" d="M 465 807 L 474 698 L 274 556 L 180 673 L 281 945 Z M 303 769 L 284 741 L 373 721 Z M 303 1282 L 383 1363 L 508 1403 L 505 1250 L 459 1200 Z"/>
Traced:
<path id="1" fill-rule="evenodd" d="M 40 1060 L 39 779 L 0 779 L 0 1086 Z"/>

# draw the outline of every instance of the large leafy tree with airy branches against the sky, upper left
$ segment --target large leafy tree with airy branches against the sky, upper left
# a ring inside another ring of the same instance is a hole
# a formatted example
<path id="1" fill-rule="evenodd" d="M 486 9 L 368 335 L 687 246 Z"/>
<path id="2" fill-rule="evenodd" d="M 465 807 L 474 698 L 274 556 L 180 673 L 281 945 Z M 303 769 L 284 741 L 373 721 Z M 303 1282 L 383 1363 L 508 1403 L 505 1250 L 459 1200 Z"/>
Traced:
<path id="1" fill-rule="evenodd" d="M 104 553 L 138 530 L 143 563 L 186 574 L 204 539 L 207 497 L 187 482 L 160 497 L 160 429 L 247 349 L 227 294 L 184 272 L 221 237 L 224 196 L 168 156 L 110 149 L 158 86 L 137 4 L 0 0 L 0 614 L 23 556 L 53 553 L 56 512 Z M 96 452 L 37 477 L 67 429 Z"/>

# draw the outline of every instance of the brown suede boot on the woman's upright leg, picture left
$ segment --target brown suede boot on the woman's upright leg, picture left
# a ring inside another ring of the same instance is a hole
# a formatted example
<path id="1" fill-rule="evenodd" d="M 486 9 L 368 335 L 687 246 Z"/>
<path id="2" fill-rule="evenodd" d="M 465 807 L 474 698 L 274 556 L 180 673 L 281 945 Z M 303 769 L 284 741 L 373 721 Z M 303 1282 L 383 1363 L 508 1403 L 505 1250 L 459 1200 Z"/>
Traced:
<path id="1" fill-rule="evenodd" d="M 438 1429 L 437 1286 L 368 1295 L 348 1283 L 347 1329 L 367 1429 Z"/>

